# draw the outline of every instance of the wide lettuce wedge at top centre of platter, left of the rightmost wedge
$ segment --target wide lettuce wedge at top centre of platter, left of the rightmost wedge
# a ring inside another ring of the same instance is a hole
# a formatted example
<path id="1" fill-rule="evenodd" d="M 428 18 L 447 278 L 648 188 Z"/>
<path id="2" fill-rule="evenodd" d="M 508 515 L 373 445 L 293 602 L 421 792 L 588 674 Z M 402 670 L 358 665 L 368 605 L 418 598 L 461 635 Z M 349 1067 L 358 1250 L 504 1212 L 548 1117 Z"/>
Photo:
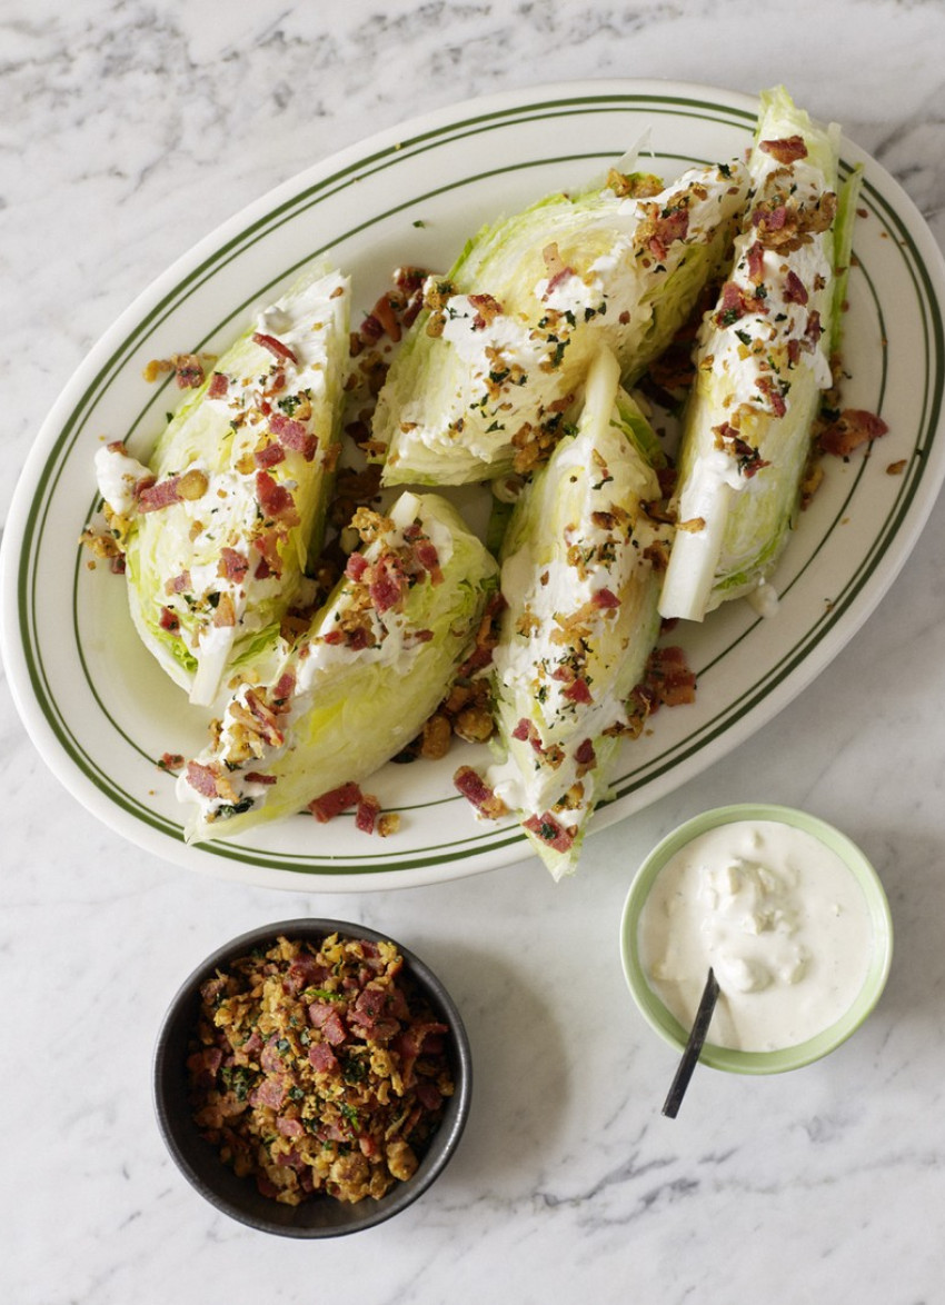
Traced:
<path id="1" fill-rule="evenodd" d="M 607 346 L 630 384 L 689 316 L 745 196 L 732 163 L 672 185 L 612 172 L 483 228 L 444 279 L 381 390 L 385 484 L 462 484 L 544 461 Z"/>

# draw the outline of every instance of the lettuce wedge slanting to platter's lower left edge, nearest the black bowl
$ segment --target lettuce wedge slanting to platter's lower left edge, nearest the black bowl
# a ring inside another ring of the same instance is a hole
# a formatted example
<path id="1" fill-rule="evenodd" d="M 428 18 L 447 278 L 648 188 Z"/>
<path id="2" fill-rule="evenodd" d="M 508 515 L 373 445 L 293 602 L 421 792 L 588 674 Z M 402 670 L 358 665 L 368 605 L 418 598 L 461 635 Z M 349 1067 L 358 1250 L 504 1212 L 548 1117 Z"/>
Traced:
<path id="1" fill-rule="evenodd" d="M 178 780 L 193 840 L 228 838 L 359 784 L 401 752 L 467 655 L 497 565 L 437 495 L 355 517 L 367 547 L 266 677 L 249 676 Z"/>

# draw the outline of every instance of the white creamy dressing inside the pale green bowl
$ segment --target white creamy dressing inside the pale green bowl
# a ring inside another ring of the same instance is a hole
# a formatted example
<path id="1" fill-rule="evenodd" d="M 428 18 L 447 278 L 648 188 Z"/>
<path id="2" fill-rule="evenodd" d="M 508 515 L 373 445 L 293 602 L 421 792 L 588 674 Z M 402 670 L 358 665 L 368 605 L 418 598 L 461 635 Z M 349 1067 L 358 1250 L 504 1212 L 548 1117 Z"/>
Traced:
<path id="1" fill-rule="evenodd" d="M 779 821 L 707 830 L 663 867 L 638 924 L 646 980 L 684 1028 L 709 967 L 719 1001 L 709 1040 L 794 1047 L 854 1004 L 872 951 L 865 897 L 841 856 Z"/>

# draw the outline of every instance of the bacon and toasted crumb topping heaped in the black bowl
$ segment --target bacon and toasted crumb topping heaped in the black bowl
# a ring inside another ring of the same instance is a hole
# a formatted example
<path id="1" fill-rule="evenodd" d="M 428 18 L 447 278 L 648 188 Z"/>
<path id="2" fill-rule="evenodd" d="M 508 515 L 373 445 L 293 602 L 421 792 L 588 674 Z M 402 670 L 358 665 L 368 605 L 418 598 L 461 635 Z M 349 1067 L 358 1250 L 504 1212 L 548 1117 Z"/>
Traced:
<path id="1" fill-rule="evenodd" d="M 279 937 L 201 988 L 193 1118 L 265 1197 L 377 1201 L 416 1172 L 456 1090 L 449 1032 L 393 942 Z"/>

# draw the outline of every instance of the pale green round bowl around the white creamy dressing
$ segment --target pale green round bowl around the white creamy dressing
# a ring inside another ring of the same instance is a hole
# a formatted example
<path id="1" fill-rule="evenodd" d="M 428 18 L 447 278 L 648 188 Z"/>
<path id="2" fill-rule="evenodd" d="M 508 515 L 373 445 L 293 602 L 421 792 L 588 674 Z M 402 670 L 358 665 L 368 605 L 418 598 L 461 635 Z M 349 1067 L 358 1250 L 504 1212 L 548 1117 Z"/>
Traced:
<path id="1" fill-rule="evenodd" d="M 893 959 L 893 921 L 880 878 L 863 852 L 831 825 L 807 812 L 761 803 L 718 806 L 680 825 L 650 852 L 627 895 L 620 927 L 624 975 L 645 1019 L 667 1043 L 681 1052 L 689 1030 L 683 1028 L 646 981 L 638 953 L 640 916 L 660 870 L 676 852 L 706 830 L 736 821 L 775 821 L 794 825 L 830 848 L 860 885 L 872 927 L 872 955 L 863 987 L 848 1010 L 829 1028 L 807 1041 L 770 1052 L 732 1051 L 715 1043 L 706 1043 L 700 1056 L 701 1064 L 734 1074 L 781 1074 L 800 1069 L 835 1051 L 860 1027 L 880 1000 Z"/>

